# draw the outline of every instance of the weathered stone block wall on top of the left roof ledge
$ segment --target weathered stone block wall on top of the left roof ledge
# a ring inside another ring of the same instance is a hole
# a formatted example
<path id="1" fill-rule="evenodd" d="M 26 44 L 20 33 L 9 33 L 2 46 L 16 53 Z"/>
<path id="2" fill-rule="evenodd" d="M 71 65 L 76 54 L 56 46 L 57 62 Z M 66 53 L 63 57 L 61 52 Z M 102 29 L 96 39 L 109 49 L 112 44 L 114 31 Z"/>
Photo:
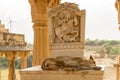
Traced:
<path id="1" fill-rule="evenodd" d="M 25 46 L 23 34 L 9 33 L 0 22 L 0 46 Z"/>

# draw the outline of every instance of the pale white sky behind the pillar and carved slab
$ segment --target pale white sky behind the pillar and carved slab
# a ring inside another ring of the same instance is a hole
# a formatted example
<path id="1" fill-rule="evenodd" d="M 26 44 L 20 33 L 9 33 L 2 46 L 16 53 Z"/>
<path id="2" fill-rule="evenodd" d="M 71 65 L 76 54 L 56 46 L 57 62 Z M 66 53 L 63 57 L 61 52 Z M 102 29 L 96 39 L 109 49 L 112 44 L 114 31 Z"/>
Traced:
<path id="1" fill-rule="evenodd" d="M 62 0 L 74 2 L 80 9 L 86 9 L 85 38 L 120 40 L 117 25 L 115 0 Z M 0 20 L 9 28 L 9 17 L 12 32 L 25 34 L 25 40 L 33 43 L 33 29 L 28 0 L 0 0 Z"/>

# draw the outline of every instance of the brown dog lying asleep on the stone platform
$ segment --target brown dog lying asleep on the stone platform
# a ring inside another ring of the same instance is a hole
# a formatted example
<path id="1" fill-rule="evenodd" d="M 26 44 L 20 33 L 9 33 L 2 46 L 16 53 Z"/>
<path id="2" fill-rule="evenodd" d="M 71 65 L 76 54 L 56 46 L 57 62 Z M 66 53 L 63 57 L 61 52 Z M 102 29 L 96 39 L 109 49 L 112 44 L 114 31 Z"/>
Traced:
<path id="1" fill-rule="evenodd" d="M 47 58 L 41 65 L 43 70 L 66 70 L 66 71 L 78 71 L 78 70 L 100 70 L 101 67 L 97 67 L 94 58 L 90 55 L 89 59 L 83 59 L 80 57 L 70 56 L 58 56 L 56 58 Z"/>

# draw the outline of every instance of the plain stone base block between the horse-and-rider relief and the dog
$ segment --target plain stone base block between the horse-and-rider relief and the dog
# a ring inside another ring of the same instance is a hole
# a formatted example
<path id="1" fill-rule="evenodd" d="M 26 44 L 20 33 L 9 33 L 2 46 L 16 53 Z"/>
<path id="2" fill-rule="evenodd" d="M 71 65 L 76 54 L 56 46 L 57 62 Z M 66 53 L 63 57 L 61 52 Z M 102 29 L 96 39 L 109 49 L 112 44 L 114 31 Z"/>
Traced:
<path id="1" fill-rule="evenodd" d="M 52 57 L 57 56 L 83 57 L 84 45 L 80 43 L 52 44 L 50 45 L 50 51 Z"/>

